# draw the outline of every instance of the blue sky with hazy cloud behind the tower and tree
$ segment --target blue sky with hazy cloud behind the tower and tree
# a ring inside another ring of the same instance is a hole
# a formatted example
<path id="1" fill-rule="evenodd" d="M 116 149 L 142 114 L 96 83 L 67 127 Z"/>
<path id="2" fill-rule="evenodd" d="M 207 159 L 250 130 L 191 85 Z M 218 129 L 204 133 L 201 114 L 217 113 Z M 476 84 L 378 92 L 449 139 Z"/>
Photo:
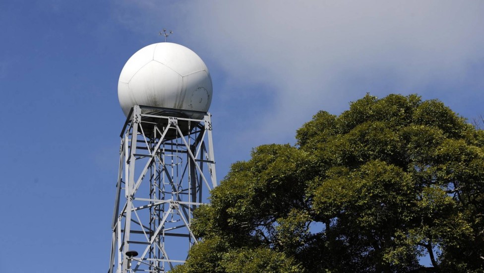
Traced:
<path id="1" fill-rule="evenodd" d="M 483 1 L 2 0 L 0 25 L 1 272 L 107 270 L 119 73 L 164 27 L 210 69 L 219 178 L 366 92 L 484 114 Z"/>

